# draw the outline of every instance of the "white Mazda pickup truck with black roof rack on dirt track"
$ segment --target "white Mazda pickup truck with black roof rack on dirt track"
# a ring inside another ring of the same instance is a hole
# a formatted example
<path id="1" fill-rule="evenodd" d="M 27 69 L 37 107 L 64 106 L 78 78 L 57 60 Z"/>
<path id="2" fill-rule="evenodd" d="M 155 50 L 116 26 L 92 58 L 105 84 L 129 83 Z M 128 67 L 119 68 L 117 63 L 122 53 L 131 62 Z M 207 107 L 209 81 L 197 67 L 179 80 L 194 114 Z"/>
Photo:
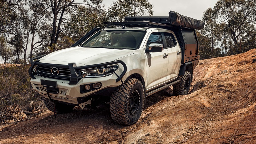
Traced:
<path id="1" fill-rule="evenodd" d="M 134 124 L 147 96 L 171 85 L 174 95 L 188 94 L 199 63 L 195 30 L 166 19 L 105 22 L 107 28 L 92 29 L 71 48 L 32 58 L 33 89 L 56 113 L 105 100 L 115 122 Z"/>

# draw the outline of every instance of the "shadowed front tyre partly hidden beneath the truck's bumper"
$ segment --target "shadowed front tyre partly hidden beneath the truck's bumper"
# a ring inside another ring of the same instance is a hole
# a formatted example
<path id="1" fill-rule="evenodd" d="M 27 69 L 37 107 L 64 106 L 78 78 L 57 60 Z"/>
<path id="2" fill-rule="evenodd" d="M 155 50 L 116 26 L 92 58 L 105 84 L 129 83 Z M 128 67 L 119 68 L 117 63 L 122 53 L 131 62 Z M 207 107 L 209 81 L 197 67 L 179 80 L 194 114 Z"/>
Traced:
<path id="1" fill-rule="evenodd" d="M 43 98 L 45 106 L 52 112 L 54 112 L 54 103 L 55 103 L 55 112 L 57 114 L 71 112 L 75 106 L 59 103 L 55 101 L 54 103 L 47 98 Z"/>

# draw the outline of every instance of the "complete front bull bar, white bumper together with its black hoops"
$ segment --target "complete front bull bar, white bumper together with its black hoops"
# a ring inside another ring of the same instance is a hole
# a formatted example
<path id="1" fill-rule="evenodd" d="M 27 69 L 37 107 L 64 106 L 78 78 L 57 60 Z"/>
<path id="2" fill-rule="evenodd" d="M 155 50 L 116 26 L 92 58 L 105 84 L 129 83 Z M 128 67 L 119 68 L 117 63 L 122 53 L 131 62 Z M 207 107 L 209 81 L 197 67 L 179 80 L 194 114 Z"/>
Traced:
<path id="1" fill-rule="evenodd" d="M 28 72 L 31 77 L 30 82 L 32 84 L 33 89 L 38 91 L 39 94 L 43 95 L 46 98 L 49 98 L 48 97 L 48 94 L 49 94 L 53 100 L 58 100 L 58 101 L 71 103 L 71 104 L 81 104 L 81 101 L 78 101 L 77 98 L 87 97 L 107 87 L 116 87 L 121 85 L 123 83 L 122 78 L 127 71 L 126 64 L 120 60 L 101 63 L 101 64 L 95 64 L 95 65 L 80 66 L 80 67 L 77 67 L 76 64 L 73 64 L 73 63 L 69 63 L 68 65 L 59 65 L 59 64 L 40 63 L 39 60 L 34 61 L 35 59 L 40 59 L 43 56 L 44 55 L 30 59 L 31 67 L 29 68 Z M 81 69 L 97 68 L 97 67 L 103 67 L 103 66 L 113 65 L 113 64 L 121 64 L 123 66 L 122 73 L 120 74 L 120 76 L 114 73 L 106 77 L 82 78 L 82 74 L 81 72 L 79 72 L 79 70 Z M 70 80 L 60 80 L 60 79 L 53 79 L 53 78 L 46 78 L 46 77 L 39 76 L 38 74 L 36 74 L 36 72 L 33 71 L 33 69 L 37 65 L 69 69 Z M 55 86 L 52 88 L 51 85 L 47 85 L 47 84 L 45 85 L 45 83 L 42 84 L 41 80 L 54 81 Z M 92 91 L 86 91 L 86 92 L 81 91 L 81 87 L 84 87 L 84 85 L 86 84 L 93 85 L 94 83 L 101 83 L 101 87 L 97 89 L 93 89 Z M 49 92 L 50 89 L 56 92 L 55 93 Z"/>

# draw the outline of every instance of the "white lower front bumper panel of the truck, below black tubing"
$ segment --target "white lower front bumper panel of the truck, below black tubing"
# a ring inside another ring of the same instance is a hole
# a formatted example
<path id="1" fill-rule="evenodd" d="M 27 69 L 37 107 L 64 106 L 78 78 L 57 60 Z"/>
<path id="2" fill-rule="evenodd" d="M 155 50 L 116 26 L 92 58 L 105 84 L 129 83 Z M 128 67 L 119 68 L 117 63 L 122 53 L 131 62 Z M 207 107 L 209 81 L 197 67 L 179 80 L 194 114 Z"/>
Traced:
<path id="1" fill-rule="evenodd" d="M 58 100 L 58 101 L 67 102 L 71 104 L 78 104 L 77 98 L 87 97 L 104 88 L 116 87 L 122 84 L 121 81 L 116 82 L 116 79 L 118 77 L 115 74 L 112 74 L 106 77 L 99 77 L 99 78 L 83 78 L 76 85 L 69 85 L 68 81 L 54 80 L 54 79 L 44 78 L 36 75 L 35 75 L 35 78 L 36 79 L 31 79 L 30 82 L 32 84 L 33 89 L 38 91 L 40 95 L 43 95 L 44 97 L 48 98 L 48 95 L 46 92 L 47 87 L 41 84 L 41 79 L 56 81 L 57 89 L 59 92 L 57 94 L 49 93 L 49 95 L 53 100 Z M 86 84 L 93 84 L 93 83 L 101 83 L 102 85 L 99 89 L 89 91 L 86 93 L 81 93 L 80 86 L 86 85 Z"/>

